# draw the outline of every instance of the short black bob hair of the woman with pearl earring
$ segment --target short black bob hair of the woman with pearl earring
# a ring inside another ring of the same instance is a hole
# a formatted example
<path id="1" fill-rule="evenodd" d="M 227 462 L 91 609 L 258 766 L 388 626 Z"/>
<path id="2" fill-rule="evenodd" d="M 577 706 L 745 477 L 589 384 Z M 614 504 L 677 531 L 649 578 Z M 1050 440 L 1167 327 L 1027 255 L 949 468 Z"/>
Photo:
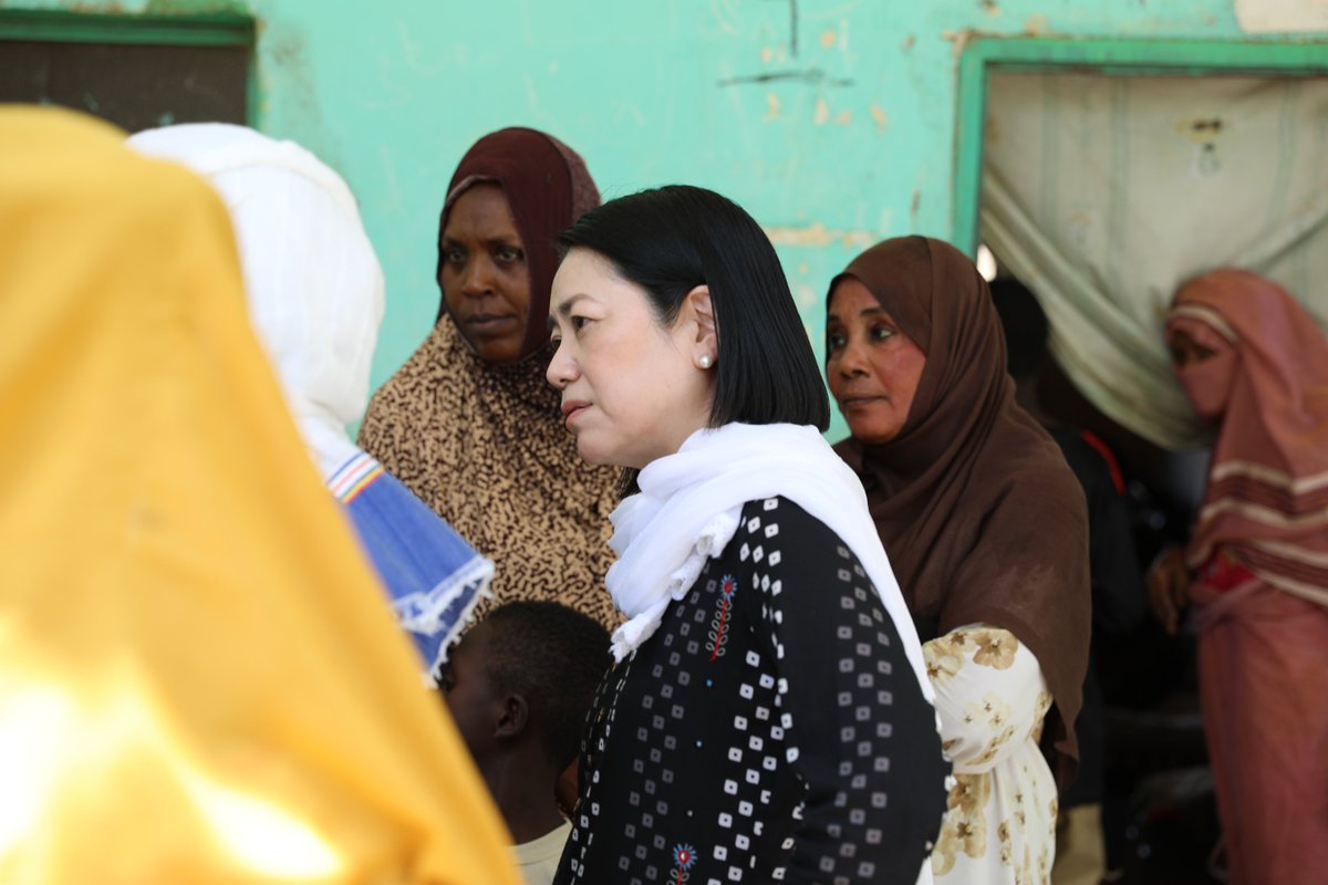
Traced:
<path id="1" fill-rule="evenodd" d="M 645 289 L 671 326 L 699 285 L 710 291 L 718 338 L 710 427 L 830 425 L 830 401 L 784 268 L 761 227 L 733 200 L 671 184 L 586 212 L 558 238 L 590 249 Z"/>

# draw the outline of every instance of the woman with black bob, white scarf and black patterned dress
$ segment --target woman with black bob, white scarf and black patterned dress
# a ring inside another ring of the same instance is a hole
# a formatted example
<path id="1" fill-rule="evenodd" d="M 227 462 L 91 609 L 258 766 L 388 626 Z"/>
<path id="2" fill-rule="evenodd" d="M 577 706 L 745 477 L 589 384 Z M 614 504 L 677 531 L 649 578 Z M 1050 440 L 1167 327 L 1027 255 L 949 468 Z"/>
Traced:
<path id="1" fill-rule="evenodd" d="M 556 881 L 930 881 L 950 767 L 922 651 L 770 241 L 676 186 L 560 243 L 548 379 L 635 494 Z"/>

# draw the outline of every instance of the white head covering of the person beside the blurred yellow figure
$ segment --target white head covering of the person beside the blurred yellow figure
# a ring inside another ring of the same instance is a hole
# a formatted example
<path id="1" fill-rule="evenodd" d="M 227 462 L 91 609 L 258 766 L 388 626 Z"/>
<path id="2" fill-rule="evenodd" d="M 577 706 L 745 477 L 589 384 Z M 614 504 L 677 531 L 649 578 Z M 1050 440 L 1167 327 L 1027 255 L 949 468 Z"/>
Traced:
<path id="1" fill-rule="evenodd" d="M 208 179 L 230 210 L 250 316 L 323 478 L 357 454 L 384 281 L 345 182 L 299 145 L 230 123 L 130 137 Z"/>

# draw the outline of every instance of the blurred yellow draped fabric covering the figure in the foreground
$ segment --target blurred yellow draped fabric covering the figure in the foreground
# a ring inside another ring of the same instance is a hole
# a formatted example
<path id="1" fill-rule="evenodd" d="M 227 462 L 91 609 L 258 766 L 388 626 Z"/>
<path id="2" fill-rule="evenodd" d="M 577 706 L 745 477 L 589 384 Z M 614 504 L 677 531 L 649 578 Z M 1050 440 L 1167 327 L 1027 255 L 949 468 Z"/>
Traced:
<path id="1" fill-rule="evenodd" d="M 240 287 L 199 179 L 0 110 L 0 881 L 515 884 Z"/>

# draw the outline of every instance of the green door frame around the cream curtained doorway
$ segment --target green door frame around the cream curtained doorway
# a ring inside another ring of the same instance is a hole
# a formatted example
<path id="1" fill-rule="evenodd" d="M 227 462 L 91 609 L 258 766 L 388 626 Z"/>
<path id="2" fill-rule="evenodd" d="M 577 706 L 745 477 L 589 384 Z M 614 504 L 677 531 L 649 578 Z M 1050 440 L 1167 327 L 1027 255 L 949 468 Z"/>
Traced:
<path id="1" fill-rule="evenodd" d="M 969 256 L 976 255 L 979 241 L 991 74 L 1070 69 L 1120 76 L 1328 76 L 1328 42 L 975 37 L 959 60 L 951 204 L 951 241 Z"/>

